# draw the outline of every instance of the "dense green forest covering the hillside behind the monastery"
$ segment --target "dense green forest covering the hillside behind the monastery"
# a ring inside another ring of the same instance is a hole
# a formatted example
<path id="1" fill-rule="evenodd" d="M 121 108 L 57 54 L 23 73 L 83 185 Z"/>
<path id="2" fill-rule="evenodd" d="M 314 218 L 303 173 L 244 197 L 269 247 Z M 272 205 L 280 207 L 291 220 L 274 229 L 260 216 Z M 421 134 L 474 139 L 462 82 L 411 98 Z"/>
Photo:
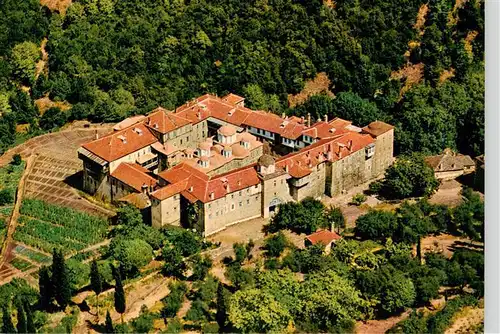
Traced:
<path id="1" fill-rule="evenodd" d="M 484 152 L 480 0 L 80 0 L 64 13 L 4 0 L 0 13 L 0 150 L 17 124 L 34 135 L 234 92 L 277 113 L 390 122 L 397 153 Z M 334 96 L 290 108 L 320 72 Z M 72 107 L 41 116 L 43 96 Z"/>

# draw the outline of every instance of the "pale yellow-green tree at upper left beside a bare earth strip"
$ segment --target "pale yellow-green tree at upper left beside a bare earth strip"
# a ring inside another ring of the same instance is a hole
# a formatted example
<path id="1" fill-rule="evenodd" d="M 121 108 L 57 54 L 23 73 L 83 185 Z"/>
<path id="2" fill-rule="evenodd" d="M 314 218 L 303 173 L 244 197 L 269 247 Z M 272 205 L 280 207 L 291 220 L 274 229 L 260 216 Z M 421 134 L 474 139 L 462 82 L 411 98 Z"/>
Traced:
<path id="1" fill-rule="evenodd" d="M 41 58 L 38 46 L 32 42 L 23 42 L 12 48 L 12 67 L 14 74 L 24 84 L 35 82 L 36 63 Z"/>

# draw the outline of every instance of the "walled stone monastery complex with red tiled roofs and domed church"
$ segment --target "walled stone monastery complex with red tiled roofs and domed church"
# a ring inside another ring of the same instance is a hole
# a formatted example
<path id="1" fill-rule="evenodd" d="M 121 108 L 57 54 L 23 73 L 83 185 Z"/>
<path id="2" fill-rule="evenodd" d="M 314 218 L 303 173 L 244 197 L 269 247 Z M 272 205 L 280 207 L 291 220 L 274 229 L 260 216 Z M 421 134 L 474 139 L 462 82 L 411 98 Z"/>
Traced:
<path id="1" fill-rule="evenodd" d="M 78 155 L 86 192 L 141 208 L 155 227 L 207 236 L 269 217 L 280 203 L 332 197 L 383 174 L 393 142 L 394 128 L 380 121 L 312 124 L 248 109 L 234 94 L 203 95 L 175 111 L 127 118 Z"/>

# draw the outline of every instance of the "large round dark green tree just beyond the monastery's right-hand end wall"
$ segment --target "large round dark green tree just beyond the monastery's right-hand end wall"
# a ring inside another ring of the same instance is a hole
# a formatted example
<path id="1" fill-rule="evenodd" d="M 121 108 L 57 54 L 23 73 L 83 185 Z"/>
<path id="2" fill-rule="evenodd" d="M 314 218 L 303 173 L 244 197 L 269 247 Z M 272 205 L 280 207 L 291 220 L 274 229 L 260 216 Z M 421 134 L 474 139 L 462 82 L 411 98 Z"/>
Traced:
<path id="1" fill-rule="evenodd" d="M 385 171 L 381 194 L 396 199 L 427 196 L 438 184 L 434 171 L 421 155 L 399 156 Z"/>

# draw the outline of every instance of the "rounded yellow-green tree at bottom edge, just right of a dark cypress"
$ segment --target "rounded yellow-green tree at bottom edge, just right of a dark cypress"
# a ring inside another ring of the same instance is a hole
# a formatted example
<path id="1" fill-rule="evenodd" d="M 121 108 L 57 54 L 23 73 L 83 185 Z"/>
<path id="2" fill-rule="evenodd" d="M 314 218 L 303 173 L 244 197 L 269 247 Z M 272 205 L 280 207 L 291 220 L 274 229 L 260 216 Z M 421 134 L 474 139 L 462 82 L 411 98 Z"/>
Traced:
<path id="1" fill-rule="evenodd" d="M 289 311 L 272 294 L 258 289 L 240 290 L 232 295 L 228 317 L 243 332 L 283 331 L 293 324 Z"/>

